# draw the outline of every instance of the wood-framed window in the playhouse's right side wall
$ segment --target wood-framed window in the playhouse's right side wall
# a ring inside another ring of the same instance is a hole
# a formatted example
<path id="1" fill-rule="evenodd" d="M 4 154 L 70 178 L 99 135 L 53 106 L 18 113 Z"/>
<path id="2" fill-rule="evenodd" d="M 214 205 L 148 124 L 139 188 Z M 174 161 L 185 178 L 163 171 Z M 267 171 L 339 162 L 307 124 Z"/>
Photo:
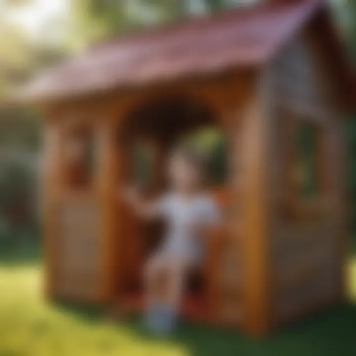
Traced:
<path id="1" fill-rule="evenodd" d="M 286 217 L 296 221 L 319 219 L 330 198 L 324 126 L 292 110 L 283 110 L 280 119 L 275 154 L 281 207 Z"/>

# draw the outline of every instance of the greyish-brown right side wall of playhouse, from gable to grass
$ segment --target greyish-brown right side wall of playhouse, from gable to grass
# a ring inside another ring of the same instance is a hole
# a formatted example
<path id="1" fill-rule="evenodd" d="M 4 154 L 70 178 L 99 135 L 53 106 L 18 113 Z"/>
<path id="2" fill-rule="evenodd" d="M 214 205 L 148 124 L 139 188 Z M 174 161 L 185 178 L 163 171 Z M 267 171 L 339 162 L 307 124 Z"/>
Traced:
<path id="1" fill-rule="evenodd" d="M 344 295 L 345 201 L 342 118 L 317 43 L 308 31 L 272 63 L 273 153 L 270 238 L 271 324 L 312 312 Z M 297 130 L 315 130 L 316 192 L 293 183 Z"/>

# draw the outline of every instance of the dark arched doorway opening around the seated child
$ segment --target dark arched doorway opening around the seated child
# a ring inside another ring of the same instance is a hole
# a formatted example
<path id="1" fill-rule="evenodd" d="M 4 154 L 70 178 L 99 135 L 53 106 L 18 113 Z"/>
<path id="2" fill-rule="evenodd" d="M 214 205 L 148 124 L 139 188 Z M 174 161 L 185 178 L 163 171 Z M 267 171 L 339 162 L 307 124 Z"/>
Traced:
<path id="1" fill-rule="evenodd" d="M 206 105 L 174 97 L 151 101 L 125 118 L 120 144 L 126 157 L 125 184 L 140 185 L 147 196 L 166 188 L 166 163 L 172 149 L 194 144 L 207 157 L 208 189 L 224 189 L 227 176 L 226 139 L 217 115 Z M 142 271 L 154 246 L 163 237 L 162 222 L 145 222 L 123 209 L 125 245 L 121 254 L 120 289 L 136 293 L 142 288 Z M 199 277 L 198 277 L 199 279 Z M 192 287 L 204 293 L 194 276 Z M 130 293 L 129 292 L 129 293 Z M 195 290 L 194 290 L 195 292 Z M 134 298 L 130 295 L 130 301 Z"/>

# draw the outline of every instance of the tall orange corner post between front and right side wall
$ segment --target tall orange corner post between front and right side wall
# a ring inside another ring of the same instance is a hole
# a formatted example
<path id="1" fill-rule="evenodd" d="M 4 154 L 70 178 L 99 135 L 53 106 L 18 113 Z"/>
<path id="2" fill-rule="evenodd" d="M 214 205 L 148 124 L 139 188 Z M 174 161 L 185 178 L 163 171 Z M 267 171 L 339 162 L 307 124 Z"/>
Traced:
<path id="1" fill-rule="evenodd" d="M 262 335 L 271 328 L 270 286 L 270 73 L 257 80 L 257 94 L 241 118 L 239 184 L 243 259 L 243 328 Z M 235 178 L 236 179 L 236 178 Z"/>

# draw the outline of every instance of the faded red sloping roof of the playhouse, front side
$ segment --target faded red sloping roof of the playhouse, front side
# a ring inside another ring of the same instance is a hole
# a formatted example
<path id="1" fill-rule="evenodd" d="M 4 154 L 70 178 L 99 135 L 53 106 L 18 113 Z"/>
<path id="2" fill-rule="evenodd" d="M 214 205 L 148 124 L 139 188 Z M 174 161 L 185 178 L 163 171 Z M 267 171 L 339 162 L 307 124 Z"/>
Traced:
<path id="1" fill-rule="evenodd" d="M 48 71 L 22 94 L 64 98 L 259 66 L 323 3 L 299 0 L 237 9 L 104 43 Z"/>

